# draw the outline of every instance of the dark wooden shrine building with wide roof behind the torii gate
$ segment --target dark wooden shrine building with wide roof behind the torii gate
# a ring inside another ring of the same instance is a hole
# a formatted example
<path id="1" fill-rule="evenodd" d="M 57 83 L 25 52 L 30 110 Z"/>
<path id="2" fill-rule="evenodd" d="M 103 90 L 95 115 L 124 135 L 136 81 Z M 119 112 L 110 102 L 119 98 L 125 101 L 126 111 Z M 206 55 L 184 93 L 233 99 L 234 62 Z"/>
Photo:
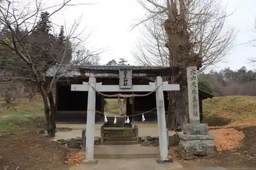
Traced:
<path id="1" fill-rule="evenodd" d="M 47 77 L 53 77 L 57 71 L 57 67 L 51 67 L 47 72 Z M 56 103 L 56 121 L 66 123 L 86 123 L 87 121 L 87 105 L 88 91 L 72 91 L 72 84 L 83 84 L 88 82 L 90 72 L 93 72 L 96 77 L 96 82 L 102 82 L 102 85 L 119 85 L 119 70 L 132 70 L 132 85 L 149 85 L 154 82 L 152 78 L 156 76 L 172 76 L 178 74 L 178 68 L 154 67 L 146 68 L 142 66 L 110 66 L 110 65 L 81 65 L 69 66 L 62 65 L 58 70 L 58 81 L 56 82 L 55 103 Z M 149 91 L 150 92 L 150 91 Z M 103 94 L 116 94 L 116 92 L 102 92 Z M 131 94 L 131 92 L 120 92 L 122 94 Z M 148 92 L 133 92 L 134 94 L 146 94 Z M 200 122 L 203 117 L 202 100 L 212 98 L 214 95 L 202 89 L 199 89 L 199 109 Z M 106 98 L 105 98 L 106 99 Z M 164 91 L 164 106 L 165 113 L 168 113 L 168 96 L 167 91 Z M 135 115 L 156 108 L 156 94 L 152 92 L 146 96 L 133 98 L 133 102 L 126 101 L 126 115 Z M 104 115 L 104 96 L 96 93 L 96 113 L 95 122 L 102 122 Z M 97 111 L 101 112 L 98 113 Z M 157 119 L 157 110 L 152 110 L 145 115 L 147 121 Z M 132 116 L 131 121 L 142 121 L 141 115 Z"/>

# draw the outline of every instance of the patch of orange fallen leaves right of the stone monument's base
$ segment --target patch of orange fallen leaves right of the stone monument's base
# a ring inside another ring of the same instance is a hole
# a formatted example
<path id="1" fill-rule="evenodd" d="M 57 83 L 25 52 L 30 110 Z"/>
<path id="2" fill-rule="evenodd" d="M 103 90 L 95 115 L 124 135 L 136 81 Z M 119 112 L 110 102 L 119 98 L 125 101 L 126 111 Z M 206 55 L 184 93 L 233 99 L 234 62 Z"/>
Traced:
<path id="1" fill-rule="evenodd" d="M 240 148 L 245 137 L 242 131 L 233 128 L 210 130 L 209 133 L 215 134 L 215 145 L 219 152 Z"/>

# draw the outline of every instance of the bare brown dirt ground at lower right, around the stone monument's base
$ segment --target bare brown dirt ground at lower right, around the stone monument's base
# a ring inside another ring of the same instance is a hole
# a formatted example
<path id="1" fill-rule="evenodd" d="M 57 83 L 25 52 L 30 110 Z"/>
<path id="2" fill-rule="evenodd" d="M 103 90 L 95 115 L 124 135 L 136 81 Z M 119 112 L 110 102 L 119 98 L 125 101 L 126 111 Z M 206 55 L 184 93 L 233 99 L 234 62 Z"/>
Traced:
<path id="1" fill-rule="evenodd" d="M 195 160 L 181 160 L 185 168 L 197 166 L 220 166 L 226 168 L 255 168 L 256 167 L 256 127 L 236 128 L 245 135 L 238 148 L 221 151 L 215 158 L 198 158 Z M 180 159 L 177 157 L 176 159 Z"/>

